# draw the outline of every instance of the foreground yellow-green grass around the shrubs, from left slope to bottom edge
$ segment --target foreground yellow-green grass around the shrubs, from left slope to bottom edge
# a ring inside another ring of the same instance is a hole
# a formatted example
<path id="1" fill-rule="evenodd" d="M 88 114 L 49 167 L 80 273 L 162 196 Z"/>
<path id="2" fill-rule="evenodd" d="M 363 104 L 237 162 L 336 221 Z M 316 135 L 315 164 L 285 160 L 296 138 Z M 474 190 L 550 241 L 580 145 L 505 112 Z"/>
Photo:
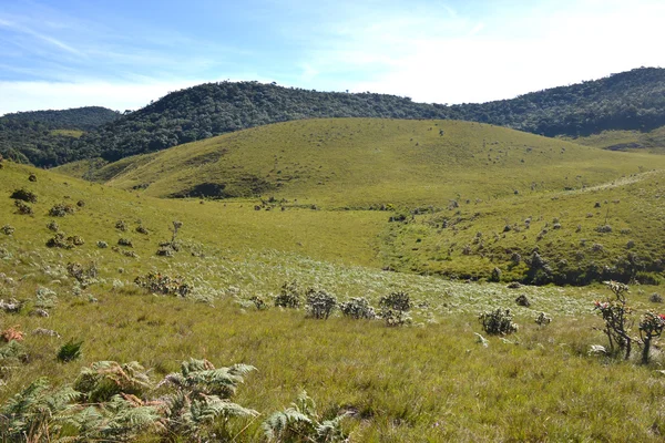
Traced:
<path id="1" fill-rule="evenodd" d="M 357 411 L 346 424 L 354 441 L 658 441 L 665 432 L 653 408 L 665 399 L 661 374 L 586 356 L 589 344 L 603 340 L 589 328 L 600 323 L 590 307 L 601 289 L 513 291 L 352 266 L 374 262 L 368 239 L 380 231 L 386 213 L 255 212 L 244 202 L 154 199 L 49 172 L 38 171 L 38 182 L 29 183 L 32 171 L 13 164 L 0 169 L 2 195 L 27 186 L 39 196 L 34 216 L 13 214 L 11 199 L 0 198 L 0 224 L 17 228 L 12 236 L 0 235 L 0 271 L 16 281 L 0 290 L 30 305 L 35 289 L 45 286 L 59 301 L 49 318 L 30 317 L 24 309 L 0 313 L 0 324 L 55 329 L 62 339 L 28 334 L 30 360 L 4 375 L 2 400 L 38 375 L 55 383 L 72 380 L 96 360 L 139 360 L 157 378 L 193 356 L 256 365 L 236 401 L 264 416 L 287 405 L 300 388 L 323 411 Z M 76 214 L 57 222 L 86 244 L 48 249 L 43 245 L 52 233 L 45 213 L 63 199 L 85 200 Z M 119 218 L 131 229 L 141 219 L 151 234 L 121 233 L 114 228 Z M 175 218 L 184 223 L 185 249 L 173 258 L 155 257 Z M 121 236 L 134 240 L 140 259 L 95 247 L 96 240 L 113 245 Z M 99 281 L 81 295 L 63 268 L 70 260 L 94 260 L 100 268 Z M 151 269 L 184 275 L 194 286 L 192 298 L 208 302 L 139 290 L 132 280 Z M 413 312 L 418 326 L 388 329 L 337 317 L 315 321 L 301 311 L 257 312 L 242 302 L 276 292 L 287 279 L 342 299 L 367 296 L 374 303 L 390 290 L 406 290 L 420 306 Z M 513 306 L 516 293 L 533 301 L 532 308 L 514 307 L 521 332 L 510 342 L 490 339 L 489 348 L 475 343 L 474 313 Z M 99 301 L 89 302 L 89 296 Z M 633 296 L 636 308 L 647 305 L 646 297 Z M 540 310 L 555 319 L 548 329 L 533 324 Z M 83 359 L 58 363 L 53 356 L 70 338 L 84 340 Z M 260 420 L 231 426 L 239 432 L 248 424 L 239 440 L 256 441 Z"/>

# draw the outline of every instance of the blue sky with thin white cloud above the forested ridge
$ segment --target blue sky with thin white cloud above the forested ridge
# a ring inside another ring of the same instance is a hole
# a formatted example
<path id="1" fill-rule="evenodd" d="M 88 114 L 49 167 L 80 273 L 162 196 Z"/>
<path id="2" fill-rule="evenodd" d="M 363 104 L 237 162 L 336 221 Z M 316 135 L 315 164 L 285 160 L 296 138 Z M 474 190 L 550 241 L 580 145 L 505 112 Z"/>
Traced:
<path id="1" fill-rule="evenodd" d="M 665 66 L 664 0 L 0 0 L 0 115 L 205 82 L 480 103 Z"/>

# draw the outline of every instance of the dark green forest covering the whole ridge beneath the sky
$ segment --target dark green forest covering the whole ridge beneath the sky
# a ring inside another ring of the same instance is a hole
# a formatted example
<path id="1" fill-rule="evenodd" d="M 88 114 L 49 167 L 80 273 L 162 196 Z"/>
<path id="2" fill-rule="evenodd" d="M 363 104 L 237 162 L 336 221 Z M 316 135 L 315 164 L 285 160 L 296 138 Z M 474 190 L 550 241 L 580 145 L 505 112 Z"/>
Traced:
<path id="1" fill-rule="evenodd" d="M 386 94 L 219 82 L 170 93 L 122 116 L 101 110 L 1 117 L 0 154 L 38 166 L 92 157 L 116 161 L 247 127 L 316 117 L 456 119 L 546 136 L 649 131 L 665 125 L 665 69 L 641 68 L 483 104 L 446 106 Z M 85 133 L 76 138 L 53 135 L 53 128 Z"/>

